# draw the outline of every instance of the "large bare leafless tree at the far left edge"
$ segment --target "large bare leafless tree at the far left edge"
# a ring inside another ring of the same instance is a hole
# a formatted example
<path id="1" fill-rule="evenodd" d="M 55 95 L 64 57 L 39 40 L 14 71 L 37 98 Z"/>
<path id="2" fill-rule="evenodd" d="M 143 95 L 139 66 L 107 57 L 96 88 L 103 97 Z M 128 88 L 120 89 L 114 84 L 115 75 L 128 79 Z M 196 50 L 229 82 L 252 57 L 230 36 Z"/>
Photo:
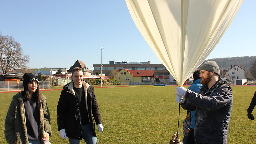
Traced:
<path id="1" fill-rule="evenodd" d="M 6 74 L 10 70 L 25 68 L 29 63 L 29 56 L 23 54 L 19 42 L 11 36 L 0 33 L 0 70 Z"/>

